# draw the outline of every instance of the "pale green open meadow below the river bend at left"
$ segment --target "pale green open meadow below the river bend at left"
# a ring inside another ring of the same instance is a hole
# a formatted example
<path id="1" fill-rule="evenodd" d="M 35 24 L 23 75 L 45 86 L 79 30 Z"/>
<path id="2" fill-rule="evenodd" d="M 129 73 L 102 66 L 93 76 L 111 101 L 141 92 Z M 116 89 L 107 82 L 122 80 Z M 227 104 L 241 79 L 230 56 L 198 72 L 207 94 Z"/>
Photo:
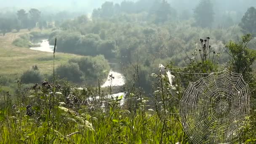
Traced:
<path id="1" fill-rule="evenodd" d="M 40 31 L 40 29 L 32 29 L 32 31 Z M 31 69 L 33 65 L 37 65 L 43 74 L 51 73 L 53 70 L 53 54 L 42 51 L 34 51 L 28 48 L 19 48 L 12 44 L 19 35 L 29 33 L 27 29 L 20 32 L 7 33 L 0 36 L 0 75 L 15 76 Z M 74 54 L 56 53 L 56 66 L 66 63 L 69 59 L 77 57 Z"/>

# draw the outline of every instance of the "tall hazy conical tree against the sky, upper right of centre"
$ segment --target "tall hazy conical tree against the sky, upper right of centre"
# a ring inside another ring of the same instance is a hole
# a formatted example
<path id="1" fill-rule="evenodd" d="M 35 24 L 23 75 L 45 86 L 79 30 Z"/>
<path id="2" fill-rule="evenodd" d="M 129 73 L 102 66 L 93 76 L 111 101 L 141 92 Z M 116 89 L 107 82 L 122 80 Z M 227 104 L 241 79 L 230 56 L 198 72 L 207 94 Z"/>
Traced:
<path id="1" fill-rule="evenodd" d="M 213 3 L 211 0 L 200 0 L 194 10 L 195 25 L 200 27 L 211 27 L 214 21 Z"/>

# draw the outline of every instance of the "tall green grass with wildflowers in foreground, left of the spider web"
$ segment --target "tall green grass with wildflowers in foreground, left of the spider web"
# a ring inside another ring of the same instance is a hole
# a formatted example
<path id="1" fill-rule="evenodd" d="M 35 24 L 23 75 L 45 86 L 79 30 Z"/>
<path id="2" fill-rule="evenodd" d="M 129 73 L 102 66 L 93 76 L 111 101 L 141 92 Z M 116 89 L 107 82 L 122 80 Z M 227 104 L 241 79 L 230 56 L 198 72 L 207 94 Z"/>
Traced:
<path id="1" fill-rule="evenodd" d="M 20 85 L 21 82 L 19 88 Z M 104 98 L 110 88 L 101 91 L 100 87 L 85 86 L 80 90 L 64 80 L 19 89 L 15 101 L 5 93 L 5 105 L 0 109 L 1 143 L 187 143 L 181 123 L 171 109 L 147 109 L 144 93 L 134 85 L 127 87 L 126 92 L 122 106 L 124 96 Z M 168 94 L 164 87 L 155 93 L 158 100 L 166 100 Z M 87 100 L 96 96 L 101 99 Z M 158 100 L 157 105 L 163 107 Z"/>

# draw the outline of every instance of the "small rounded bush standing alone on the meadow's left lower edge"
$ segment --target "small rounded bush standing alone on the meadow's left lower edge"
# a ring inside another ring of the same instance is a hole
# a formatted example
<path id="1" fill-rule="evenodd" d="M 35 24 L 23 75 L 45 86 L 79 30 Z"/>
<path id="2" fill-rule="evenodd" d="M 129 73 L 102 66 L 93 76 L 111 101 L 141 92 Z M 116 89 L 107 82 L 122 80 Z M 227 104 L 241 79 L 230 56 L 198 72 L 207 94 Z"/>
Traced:
<path id="1" fill-rule="evenodd" d="M 43 80 L 43 76 L 41 75 L 39 69 L 35 69 L 33 67 L 31 70 L 28 70 L 22 74 L 21 80 L 23 83 L 40 83 Z"/>

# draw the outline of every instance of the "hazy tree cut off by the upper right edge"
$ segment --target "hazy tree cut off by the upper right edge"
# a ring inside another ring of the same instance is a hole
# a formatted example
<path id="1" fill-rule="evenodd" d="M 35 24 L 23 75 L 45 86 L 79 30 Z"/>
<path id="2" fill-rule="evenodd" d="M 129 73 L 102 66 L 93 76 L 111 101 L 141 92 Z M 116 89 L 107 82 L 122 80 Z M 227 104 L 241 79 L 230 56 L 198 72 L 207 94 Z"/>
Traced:
<path id="1" fill-rule="evenodd" d="M 248 8 L 239 26 L 243 32 L 256 35 L 256 9 L 254 7 Z"/>

